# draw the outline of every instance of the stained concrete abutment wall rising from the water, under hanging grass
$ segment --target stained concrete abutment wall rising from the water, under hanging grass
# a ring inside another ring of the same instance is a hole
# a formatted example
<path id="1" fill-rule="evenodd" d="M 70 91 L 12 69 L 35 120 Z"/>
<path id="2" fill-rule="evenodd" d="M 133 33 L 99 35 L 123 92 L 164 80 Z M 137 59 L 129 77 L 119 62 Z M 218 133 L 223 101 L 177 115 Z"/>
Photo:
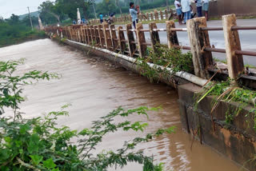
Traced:
<path id="1" fill-rule="evenodd" d="M 247 169 L 256 170 L 256 161 L 250 161 L 256 153 L 254 114 L 249 112 L 250 108 L 242 109 L 238 116 L 234 117 L 232 123 L 226 124 L 226 112 L 234 114 L 237 105 L 221 102 L 211 115 L 213 98 L 206 97 L 195 111 L 194 94 L 200 89 L 191 83 L 178 86 L 183 129 L 238 164 L 245 165 Z M 246 117 L 247 113 L 250 113 L 248 117 Z"/>

